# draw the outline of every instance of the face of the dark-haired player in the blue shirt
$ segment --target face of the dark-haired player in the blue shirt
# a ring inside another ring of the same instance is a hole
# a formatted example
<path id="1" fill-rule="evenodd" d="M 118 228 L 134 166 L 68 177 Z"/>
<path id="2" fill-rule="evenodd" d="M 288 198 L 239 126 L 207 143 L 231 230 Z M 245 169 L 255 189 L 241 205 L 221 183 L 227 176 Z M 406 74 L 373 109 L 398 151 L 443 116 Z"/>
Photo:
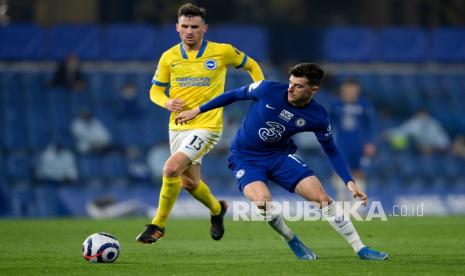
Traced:
<path id="1" fill-rule="evenodd" d="M 307 78 L 298 78 L 291 75 L 289 88 L 287 89 L 287 100 L 294 106 L 304 106 L 316 94 L 318 89 L 318 86 L 310 85 Z"/>

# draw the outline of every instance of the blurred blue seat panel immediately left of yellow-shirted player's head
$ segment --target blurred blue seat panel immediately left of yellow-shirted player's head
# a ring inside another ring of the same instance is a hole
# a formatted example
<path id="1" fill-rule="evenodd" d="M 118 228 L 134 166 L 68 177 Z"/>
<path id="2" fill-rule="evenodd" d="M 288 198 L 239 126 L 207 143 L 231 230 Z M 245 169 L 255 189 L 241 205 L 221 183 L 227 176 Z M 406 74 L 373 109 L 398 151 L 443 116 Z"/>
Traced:
<path id="1" fill-rule="evenodd" d="M 110 25 L 104 42 L 106 57 L 112 60 L 154 60 L 158 54 L 159 37 L 152 25 Z"/>

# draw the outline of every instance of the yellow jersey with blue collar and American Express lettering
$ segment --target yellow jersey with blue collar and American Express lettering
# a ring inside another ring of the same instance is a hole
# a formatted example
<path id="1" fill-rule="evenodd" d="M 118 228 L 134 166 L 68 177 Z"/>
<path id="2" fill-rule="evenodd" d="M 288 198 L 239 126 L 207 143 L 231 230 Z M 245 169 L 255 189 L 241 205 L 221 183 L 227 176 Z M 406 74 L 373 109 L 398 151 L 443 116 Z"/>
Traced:
<path id="1" fill-rule="evenodd" d="M 184 110 L 194 109 L 220 95 L 224 91 L 227 66 L 246 67 L 251 73 L 256 62 L 231 44 L 204 40 L 198 51 L 185 51 L 182 42 L 163 53 L 152 84 L 169 87 L 170 99 L 181 99 Z M 258 66 L 257 66 L 258 67 Z M 252 74 L 254 81 L 262 80 L 263 74 Z M 223 109 L 218 108 L 199 114 L 188 124 L 175 125 L 177 113 L 171 113 L 171 130 L 209 129 L 221 131 Z"/>

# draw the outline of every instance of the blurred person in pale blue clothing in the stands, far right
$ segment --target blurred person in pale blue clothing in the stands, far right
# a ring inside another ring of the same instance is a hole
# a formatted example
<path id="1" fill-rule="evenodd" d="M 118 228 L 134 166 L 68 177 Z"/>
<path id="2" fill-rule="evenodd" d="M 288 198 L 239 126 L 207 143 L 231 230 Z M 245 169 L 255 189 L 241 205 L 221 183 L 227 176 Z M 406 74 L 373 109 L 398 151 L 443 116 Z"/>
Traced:
<path id="1" fill-rule="evenodd" d="M 386 135 L 391 144 L 405 141 L 404 144 L 409 145 L 408 142 L 412 142 L 413 148 L 422 155 L 445 153 L 451 144 L 444 127 L 424 108 L 416 110 L 400 126 L 387 130 Z"/>

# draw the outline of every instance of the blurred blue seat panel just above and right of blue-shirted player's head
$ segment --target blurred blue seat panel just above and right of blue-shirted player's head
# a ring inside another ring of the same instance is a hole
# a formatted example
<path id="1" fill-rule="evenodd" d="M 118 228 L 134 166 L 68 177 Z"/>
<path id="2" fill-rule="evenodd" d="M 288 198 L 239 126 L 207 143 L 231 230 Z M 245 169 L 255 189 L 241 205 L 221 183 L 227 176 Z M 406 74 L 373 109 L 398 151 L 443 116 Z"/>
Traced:
<path id="1" fill-rule="evenodd" d="M 333 27 L 326 31 L 323 51 L 336 62 L 366 62 L 377 58 L 378 41 L 368 27 Z"/>

